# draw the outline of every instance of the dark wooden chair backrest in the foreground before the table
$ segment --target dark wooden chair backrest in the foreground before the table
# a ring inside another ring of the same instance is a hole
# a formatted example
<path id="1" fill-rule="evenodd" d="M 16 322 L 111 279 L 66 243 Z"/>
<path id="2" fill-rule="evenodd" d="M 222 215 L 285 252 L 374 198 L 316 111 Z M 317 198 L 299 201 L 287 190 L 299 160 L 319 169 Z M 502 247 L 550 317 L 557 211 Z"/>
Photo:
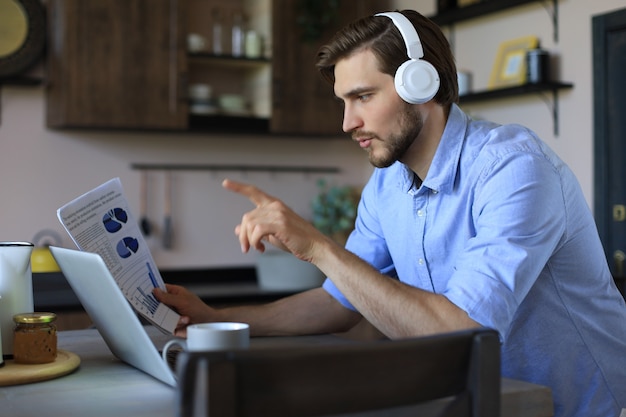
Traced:
<path id="1" fill-rule="evenodd" d="M 453 397 L 442 416 L 500 414 L 500 342 L 491 329 L 340 345 L 182 352 L 180 417 L 306 417 Z"/>

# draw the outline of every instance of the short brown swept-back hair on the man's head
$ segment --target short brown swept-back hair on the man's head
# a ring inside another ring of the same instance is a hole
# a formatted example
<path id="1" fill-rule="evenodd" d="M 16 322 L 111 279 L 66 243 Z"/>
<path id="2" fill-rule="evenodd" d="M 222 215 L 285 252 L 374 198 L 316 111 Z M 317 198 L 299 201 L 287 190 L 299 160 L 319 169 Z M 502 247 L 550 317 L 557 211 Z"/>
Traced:
<path id="1" fill-rule="evenodd" d="M 414 10 L 402 10 L 418 28 L 424 57 L 439 73 L 441 86 L 434 100 L 444 107 L 459 101 L 456 64 L 445 35 L 432 20 Z M 335 82 L 335 64 L 341 59 L 370 49 L 378 59 L 381 72 L 392 77 L 402 63 L 409 59 L 400 31 L 389 18 L 367 16 L 341 29 L 317 53 L 317 68 L 330 83 Z"/>

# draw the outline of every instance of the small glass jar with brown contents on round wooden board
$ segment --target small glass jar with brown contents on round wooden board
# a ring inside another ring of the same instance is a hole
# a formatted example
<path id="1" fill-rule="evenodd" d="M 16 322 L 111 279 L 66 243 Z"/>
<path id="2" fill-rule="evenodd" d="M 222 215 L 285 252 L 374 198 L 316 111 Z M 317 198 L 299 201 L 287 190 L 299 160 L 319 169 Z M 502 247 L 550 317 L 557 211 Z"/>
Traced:
<path id="1" fill-rule="evenodd" d="M 56 314 L 22 313 L 14 315 L 13 321 L 13 359 L 16 363 L 40 364 L 56 360 Z"/>

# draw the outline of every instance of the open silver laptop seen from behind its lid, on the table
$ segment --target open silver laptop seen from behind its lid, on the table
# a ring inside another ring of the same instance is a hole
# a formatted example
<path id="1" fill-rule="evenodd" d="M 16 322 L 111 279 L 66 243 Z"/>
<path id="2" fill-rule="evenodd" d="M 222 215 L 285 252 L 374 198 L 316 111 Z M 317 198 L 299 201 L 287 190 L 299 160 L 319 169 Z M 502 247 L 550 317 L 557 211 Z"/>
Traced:
<path id="1" fill-rule="evenodd" d="M 161 358 L 100 255 L 54 246 L 50 251 L 111 352 L 159 381 L 176 386 L 170 365 Z"/>

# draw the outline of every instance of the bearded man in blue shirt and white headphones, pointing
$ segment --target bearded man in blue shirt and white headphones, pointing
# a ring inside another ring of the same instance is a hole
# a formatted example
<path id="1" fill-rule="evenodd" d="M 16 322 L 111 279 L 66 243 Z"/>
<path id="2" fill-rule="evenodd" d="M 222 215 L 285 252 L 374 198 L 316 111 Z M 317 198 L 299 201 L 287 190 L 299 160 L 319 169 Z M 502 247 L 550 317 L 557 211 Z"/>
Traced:
<path id="1" fill-rule="evenodd" d="M 575 176 L 528 129 L 470 120 L 454 104 L 444 35 L 402 15 L 410 23 L 361 19 L 318 57 L 345 105 L 343 130 L 377 167 L 347 250 L 280 200 L 223 184 L 256 206 L 235 229 L 242 250 L 290 251 L 329 277 L 323 288 L 222 310 L 177 286 L 156 296 L 181 313 L 182 335 L 216 320 L 250 323 L 253 335 L 338 332 L 362 317 L 390 338 L 492 327 L 503 375 L 552 388 L 555 415 L 619 416 L 626 305 Z M 394 82 L 407 53 L 426 67 Z"/>

